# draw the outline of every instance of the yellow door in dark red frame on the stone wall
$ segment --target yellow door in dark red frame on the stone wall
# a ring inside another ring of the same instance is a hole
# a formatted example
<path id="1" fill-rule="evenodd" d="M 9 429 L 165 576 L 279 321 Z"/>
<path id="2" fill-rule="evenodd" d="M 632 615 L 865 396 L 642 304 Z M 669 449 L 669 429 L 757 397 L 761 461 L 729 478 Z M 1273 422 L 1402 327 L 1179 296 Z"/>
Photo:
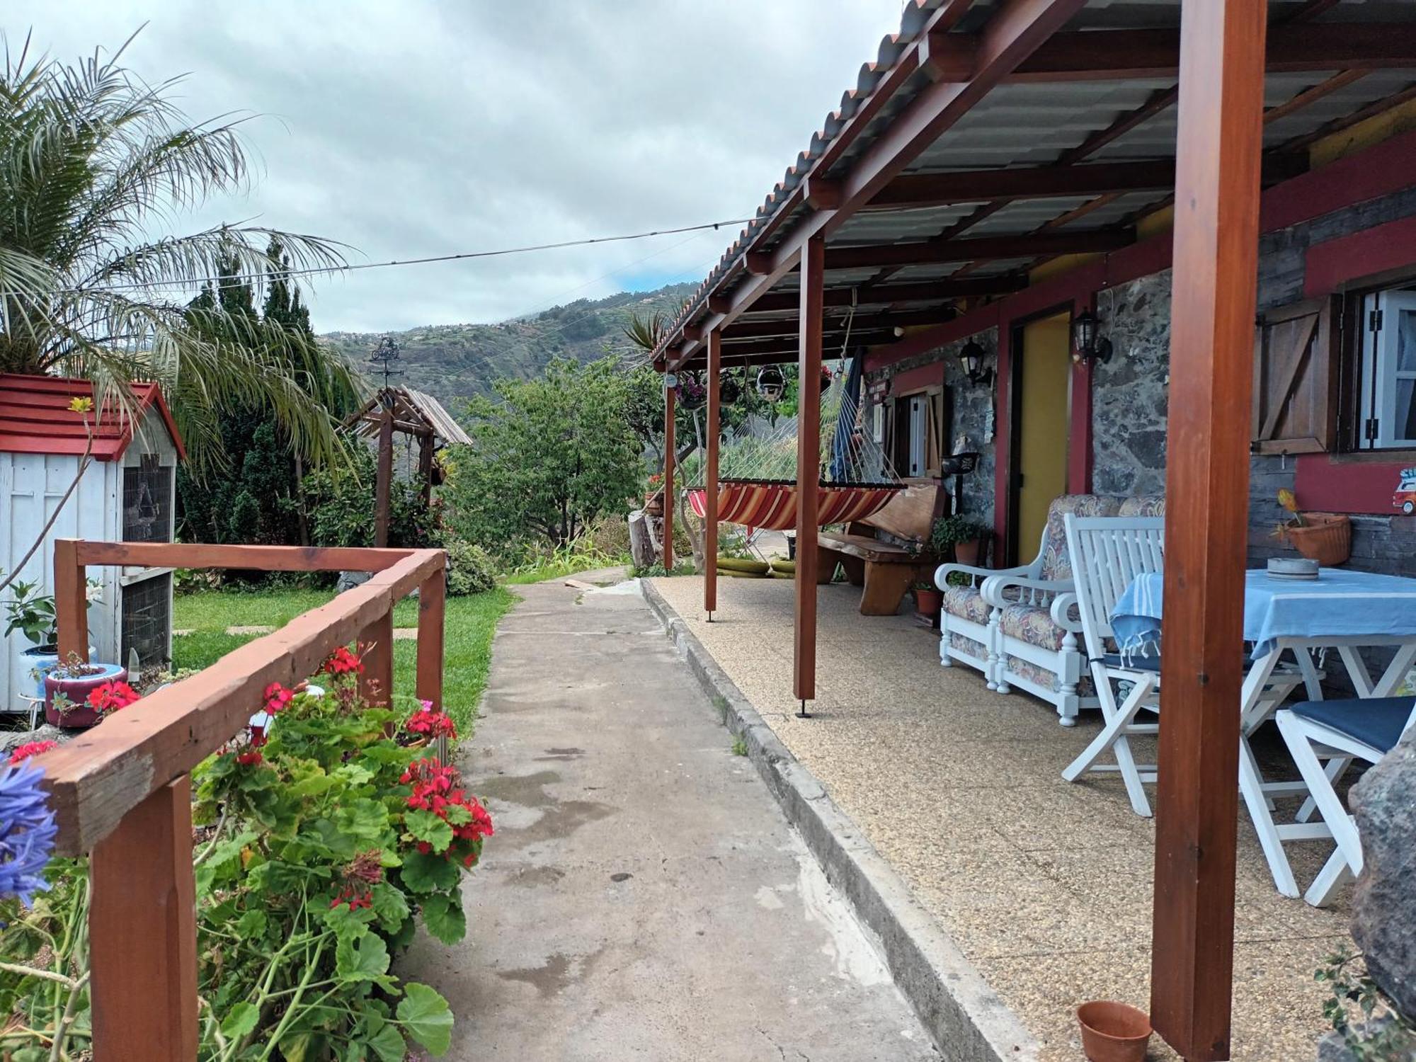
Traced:
<path id="1" fill-rule="evenodd" d="M 1022 329 L 1018 387 L 1018 561 L 1038 554 L 1052 498 L 1066 493 L 1068 384 L 1072 321 L 1068 313 Z"/>

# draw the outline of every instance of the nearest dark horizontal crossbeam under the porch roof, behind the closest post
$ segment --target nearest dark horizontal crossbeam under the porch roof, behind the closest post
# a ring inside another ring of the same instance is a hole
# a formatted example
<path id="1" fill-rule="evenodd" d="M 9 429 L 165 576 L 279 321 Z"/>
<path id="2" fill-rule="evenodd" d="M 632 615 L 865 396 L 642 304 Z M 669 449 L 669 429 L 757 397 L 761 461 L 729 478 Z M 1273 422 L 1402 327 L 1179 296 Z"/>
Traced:
<path id="1" fill-rule="evenodd" d="M 933 34 L 936 81 L 966 81 L 974 34 Z M 1416 67 L 1416 23 L 1310 23 L 1273 27 L 1264 55 L 1269 74 Z M 1180 71 L 1180 30 L 1073 30 L 1041 44 L 1008 82 L 1171 78 Z"/>

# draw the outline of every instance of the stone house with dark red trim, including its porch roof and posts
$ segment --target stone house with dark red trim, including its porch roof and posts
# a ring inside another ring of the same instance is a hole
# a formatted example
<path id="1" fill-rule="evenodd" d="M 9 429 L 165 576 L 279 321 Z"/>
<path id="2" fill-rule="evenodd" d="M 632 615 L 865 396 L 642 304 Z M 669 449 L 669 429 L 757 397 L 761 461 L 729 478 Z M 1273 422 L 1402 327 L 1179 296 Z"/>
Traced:
<path id="1" fill-rule="evenodd" d="M 1229 1056 L 1233 588 L 1279 548 L 1279 489 L 1351 514 L 1355 566 L 1416 575 L 1413 67 L 1393 0 L 909 3 L 656 351 L 714 379 L 864 348 L 898 472 L 980 455 L 961 508 L 994 566 L 1034 556 L 1059 494 L 1165 491 L 1151 1001 L 1187 1059 Z M 804 435 L 818 415 L 804 389 Z"/>

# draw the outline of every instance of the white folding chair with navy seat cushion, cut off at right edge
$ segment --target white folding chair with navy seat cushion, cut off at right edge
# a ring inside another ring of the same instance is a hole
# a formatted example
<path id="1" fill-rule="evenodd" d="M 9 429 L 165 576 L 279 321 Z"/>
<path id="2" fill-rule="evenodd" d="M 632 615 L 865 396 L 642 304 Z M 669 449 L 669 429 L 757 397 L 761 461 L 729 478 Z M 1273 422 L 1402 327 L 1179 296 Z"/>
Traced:
<path id="1" fill-rule="evenodd" d="M 1416 701 L 1410 697 L 1304 701 L 1284 708 L 1274 719 L 1324 824 L 1337 841 L 1331 858 L 1303 896 L 1313 906 L 1323 908 L 1332 902 L 1347 881 L 1362 872 L 1362 841 L 1357 823 L 1337 794 L 1335 772 L 1324 767 L 1323 760 L 1344 766 L 1352 759 L 1376 763 L 1416 725 Z"/>

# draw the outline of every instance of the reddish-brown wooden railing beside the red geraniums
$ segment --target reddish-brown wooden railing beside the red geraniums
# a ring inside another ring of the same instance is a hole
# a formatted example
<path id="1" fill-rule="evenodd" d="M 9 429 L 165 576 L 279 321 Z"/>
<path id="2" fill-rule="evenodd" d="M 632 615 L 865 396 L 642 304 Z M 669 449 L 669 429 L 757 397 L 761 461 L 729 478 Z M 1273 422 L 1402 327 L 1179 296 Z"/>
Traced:
<path id="1" fill-rule="evenodd" d="M 259 711 L 270 683 L 313 674 L 338 646 L 364 653 L 364 692 L 394 688 L 394 606 L 418 598 L 418 697 L 442 707 L 446 554 L 167 542 L 55 542 L 59 656 L 88 656 L 85 569 L 245 568 L 374 575 L 285 627 L 232 650 L 45 753 L 57 851 L 89 854 L 93 1055 L 102 1062 L 197 1056 L 197 923 L 190 772 Z"/>

